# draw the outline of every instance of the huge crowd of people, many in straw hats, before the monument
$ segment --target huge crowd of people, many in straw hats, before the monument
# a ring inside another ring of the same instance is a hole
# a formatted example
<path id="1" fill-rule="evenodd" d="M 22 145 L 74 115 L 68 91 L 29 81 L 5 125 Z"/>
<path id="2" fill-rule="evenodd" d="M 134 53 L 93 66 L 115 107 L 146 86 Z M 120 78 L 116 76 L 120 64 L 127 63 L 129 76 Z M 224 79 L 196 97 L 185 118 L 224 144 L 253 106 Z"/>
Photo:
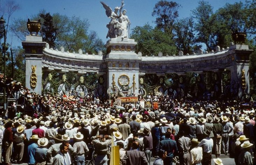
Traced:
<path id="1" fill-rule="evenodd" d="M 83 165 L 93 160 L 106 165 L 114 142 L 123 165 L 150 165 L 151 157 L 154 165 L 208 165 L 212 155 L 222 165 L 221 154 L 229 154 L 236 165 L 254 164 L 253 102 L 148 95 L 139 100 L 158 102 L 157 107 L 139 101 L 120 108 L 92 95 L 40 96 L 22 89 L 23 109 L 1 114 L 0 163 Z"/>

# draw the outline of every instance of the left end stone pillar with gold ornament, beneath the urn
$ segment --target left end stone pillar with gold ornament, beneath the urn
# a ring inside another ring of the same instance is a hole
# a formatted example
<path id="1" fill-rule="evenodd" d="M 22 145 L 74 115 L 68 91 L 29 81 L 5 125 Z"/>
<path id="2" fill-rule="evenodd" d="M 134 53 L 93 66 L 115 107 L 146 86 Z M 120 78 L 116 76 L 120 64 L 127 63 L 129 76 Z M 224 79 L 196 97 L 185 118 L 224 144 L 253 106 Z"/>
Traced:
<path id="1" fill-rule="evenodd" d="M 22 42 L 26 58 L 26 87 L 39 95 L 42 94 L 42 56 L 45 44 L 42 36 L 26 36 L 26 41 Z"/>

